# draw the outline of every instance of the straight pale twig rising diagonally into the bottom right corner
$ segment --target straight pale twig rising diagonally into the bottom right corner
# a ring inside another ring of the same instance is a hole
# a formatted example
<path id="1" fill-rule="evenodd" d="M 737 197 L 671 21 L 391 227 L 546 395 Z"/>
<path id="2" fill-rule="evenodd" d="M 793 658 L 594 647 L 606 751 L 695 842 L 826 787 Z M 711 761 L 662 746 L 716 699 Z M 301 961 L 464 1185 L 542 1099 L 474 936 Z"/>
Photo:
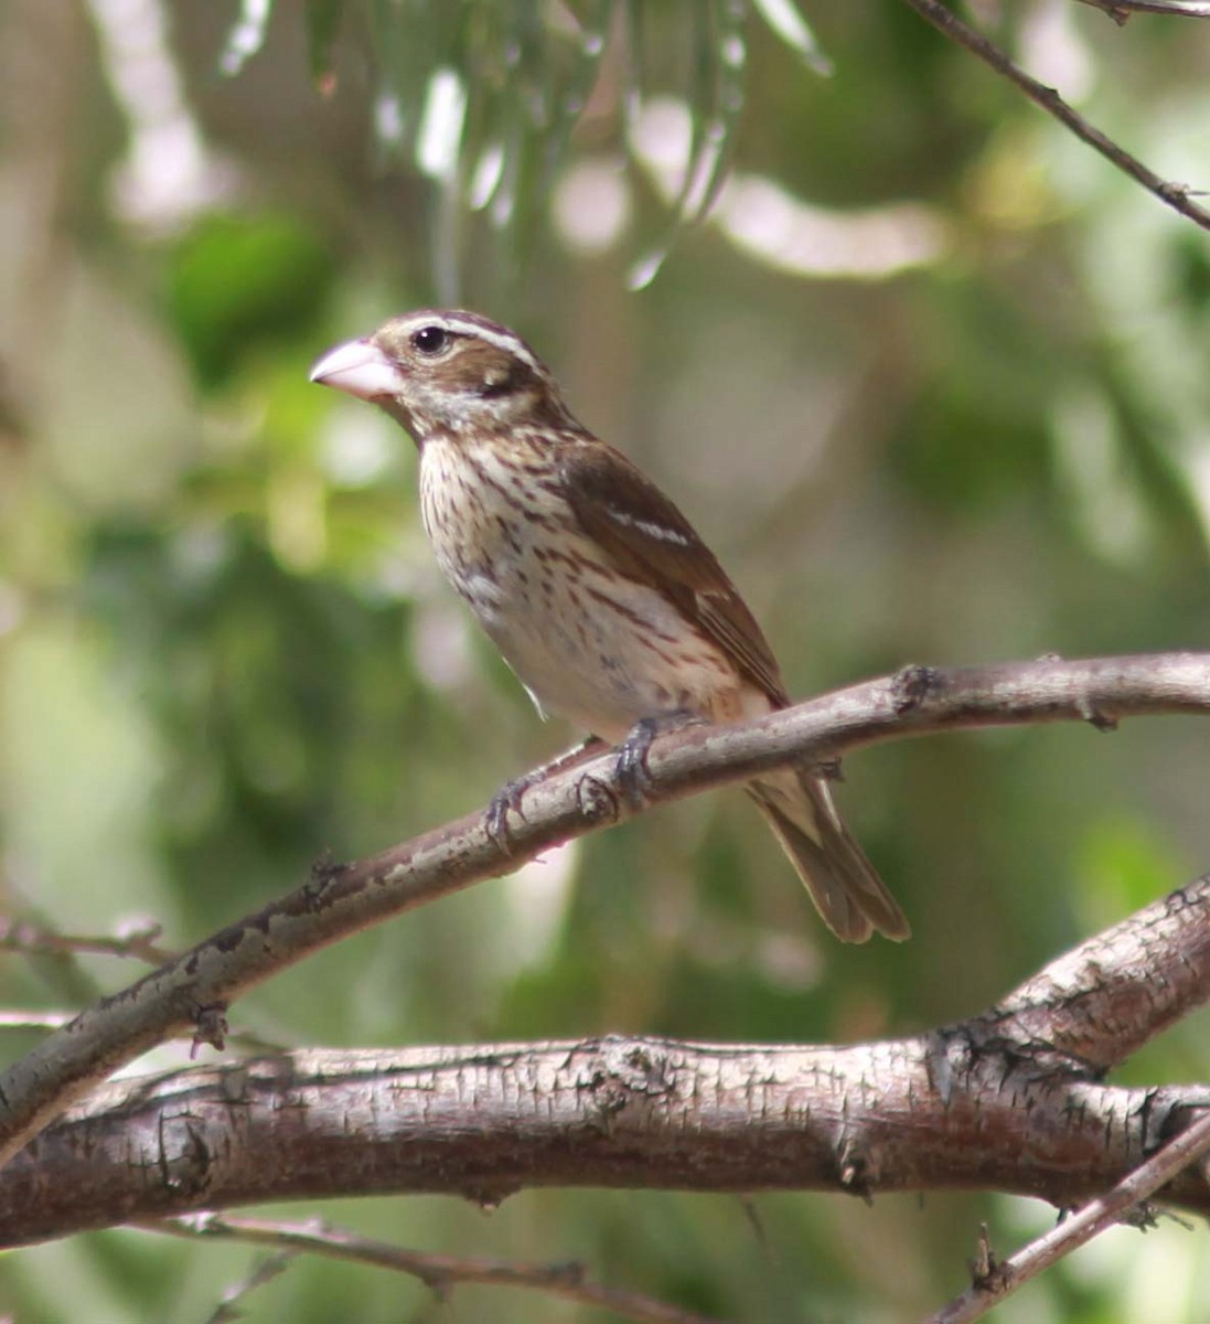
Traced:
<path id="1" fill-rule="evenodd" d="M 1105 1196 L 1088 1201 L 1048 1233 L 1030 1242 L 1010 1259 L 996 1264 L 986 1279 L 976 1282 L 948 1305 L 931 1316 L 928 1324 L 970 1324 L 994 1309 L 1045 1268 L 1091 1241 L 1136 1209 L 1172 1181 L 1191 1162 L 1210 1151 L 1210 1113 L 1198 1117 L 1176 1140 L 1136 1168 Z"/>

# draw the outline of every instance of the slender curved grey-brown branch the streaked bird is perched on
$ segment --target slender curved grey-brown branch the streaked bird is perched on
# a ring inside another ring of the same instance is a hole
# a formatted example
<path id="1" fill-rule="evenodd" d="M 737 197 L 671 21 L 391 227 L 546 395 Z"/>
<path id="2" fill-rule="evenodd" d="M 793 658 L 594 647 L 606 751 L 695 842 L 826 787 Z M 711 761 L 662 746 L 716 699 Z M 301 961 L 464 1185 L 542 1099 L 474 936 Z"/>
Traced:
<path id="1" fill-rule="evenodd" d="M 1104 730 L 1121 716 L 1160 712 L 1210 712 L 1210 654 L 909 667 L 757 722 L 665 736 L 649 756 L 647 798 L 657 804 L 909 735 L 1063 720 Z M 511 849 L 475 813 L 380 855 L 319 867 L 303 887 L 81 1013 L 0 1076 L 0 1161 L 163 1039 L 195 1026 L 220 1037 L 233 998 L 310 953 L 631 817 L 639 810 L 621 794 L 614 763 L 606 753 L 530 790 Z"/>

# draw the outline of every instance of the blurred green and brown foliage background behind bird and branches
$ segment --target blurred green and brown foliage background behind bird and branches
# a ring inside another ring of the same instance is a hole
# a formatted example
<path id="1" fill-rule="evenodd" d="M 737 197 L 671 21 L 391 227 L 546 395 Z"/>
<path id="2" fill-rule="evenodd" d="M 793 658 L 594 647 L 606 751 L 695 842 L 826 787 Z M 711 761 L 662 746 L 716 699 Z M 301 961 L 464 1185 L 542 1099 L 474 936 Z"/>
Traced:
<path id="1" fill-rule="evenodd" d="M 969 8 L 1162 176 L 1210 187 L 1210 26 Z M 896 0 L 801 19 L 778 0 L 0 8 L 5 914 L 188 945 L 579 735 L 537 720 L 440 580 L 408 438 L 307 383 L 416 306 L 531 340 L 692 518 L 797 695 L 907 662 L 1210 646 L 1206 236 Z M 1207 867 L 1207 772 L 1178 719 L 886 745 L 839 796 L 909 944 L 833 941 L 719 793 L 363 933 L 232 1021 L 353 1046 L 916 1031 Z M 9 955 L 0 1002 L 73 1008 L 140 970 Z M 1207 1026 L 1121 1079 L 1205 1080 Z M 755 1207 L 760 1231 L 739 1200 L 647 1192 L 319 1211 L 416 1249 L 582 1258 L 745 1320 L 912 1317 L 964 1286 L 980 1219 L 1007 1251 L 1054 1218 L 993 1194 Z M 1205 1256 L 1202 1229 L 1123 1230 L 997 1319 L 1205 1319 Z M 203 1320 L 257 1262 L 74 1238 L 9 1255 L 0 1311 Z M 606 1317 L 478 1288 L 442 1305 L 310 1260 L 244 1309 Z"/>

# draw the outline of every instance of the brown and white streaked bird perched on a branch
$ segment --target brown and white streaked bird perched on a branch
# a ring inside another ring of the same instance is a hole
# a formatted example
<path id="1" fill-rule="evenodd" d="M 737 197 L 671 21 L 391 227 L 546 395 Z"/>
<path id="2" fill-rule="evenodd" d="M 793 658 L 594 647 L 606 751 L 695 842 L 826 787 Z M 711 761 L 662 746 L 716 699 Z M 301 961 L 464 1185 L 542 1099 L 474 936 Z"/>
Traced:
<path id="1" fill-rule="evenodd" d="M 662 718 L 725 723 L 789 704 L 714 553 L 572 417 L 519 336 L 474 312 L 409 312 L 324 355 L 311 380 L 412 434 L 437 561 L 540 710 L 620 743 L 635 727 L 650 739 Z M 826 781 L 788 768 L 748 792 L 838 937 L 908 936 Z"/>

